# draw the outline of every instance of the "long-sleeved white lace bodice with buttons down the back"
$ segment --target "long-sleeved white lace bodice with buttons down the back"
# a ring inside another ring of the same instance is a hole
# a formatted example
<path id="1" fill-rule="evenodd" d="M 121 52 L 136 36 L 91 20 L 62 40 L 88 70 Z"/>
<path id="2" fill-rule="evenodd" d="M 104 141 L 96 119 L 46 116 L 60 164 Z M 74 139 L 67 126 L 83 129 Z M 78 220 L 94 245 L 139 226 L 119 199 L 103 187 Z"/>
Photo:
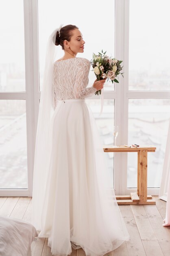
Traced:
<path id="1" fill-rule="evenodd" d="M 97 90 L 89 83 L 90 61 L 87 58 L 75 57 L 55 61 L 52 83 L 52 107 L 56 108 L 58 100 L 84 99 L 92 96 Z"/>

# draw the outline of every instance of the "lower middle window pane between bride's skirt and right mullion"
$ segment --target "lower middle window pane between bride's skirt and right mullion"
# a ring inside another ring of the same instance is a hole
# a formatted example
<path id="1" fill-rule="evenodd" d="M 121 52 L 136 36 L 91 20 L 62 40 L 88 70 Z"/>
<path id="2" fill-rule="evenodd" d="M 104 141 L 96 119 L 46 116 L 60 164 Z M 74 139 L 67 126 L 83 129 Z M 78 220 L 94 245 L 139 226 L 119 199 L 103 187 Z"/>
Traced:
<path id="1" fill-rule="evenodd" d="M 103 103 L 103 112 L 98 117 L 100 113 L 101 100 L 85 100 L 88 106 L 91 108 L 96 125 L 98 127 L 98 131 L 100 134 L 100 139 L 102 141 L 102 145 L 112 145 L 114 144 L 113 137 L 113 125 L 114 125 L 114 99 L 104 99 Z M 107 170 L 110 175 L 110 184 L 108 186 L 113 188 L 114 184 L 114 153 L 113 152 L 105 152 L 106 161 L 107 161 Z"/>

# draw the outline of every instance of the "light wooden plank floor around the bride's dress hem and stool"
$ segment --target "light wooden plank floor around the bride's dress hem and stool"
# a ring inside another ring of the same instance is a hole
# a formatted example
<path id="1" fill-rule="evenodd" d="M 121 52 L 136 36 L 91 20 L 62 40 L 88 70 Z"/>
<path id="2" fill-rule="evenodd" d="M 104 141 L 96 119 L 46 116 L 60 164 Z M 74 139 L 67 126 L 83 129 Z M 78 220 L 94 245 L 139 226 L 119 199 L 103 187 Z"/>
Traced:
<path id="1" fill-rule="evenodd" d="M 153 196 L 156 205 L 119 205 L 131 240 L 105 256 L 170 256 L 170 226 L 163 227 L 166 202 Z M 0 216 L 31 221 L 31 197 L 0 197 Z M 31 244 L 32 256 L 50 256 L 48 238 L 36 238 Z M 71 256 L 85 256 L 82 248 Z"/>

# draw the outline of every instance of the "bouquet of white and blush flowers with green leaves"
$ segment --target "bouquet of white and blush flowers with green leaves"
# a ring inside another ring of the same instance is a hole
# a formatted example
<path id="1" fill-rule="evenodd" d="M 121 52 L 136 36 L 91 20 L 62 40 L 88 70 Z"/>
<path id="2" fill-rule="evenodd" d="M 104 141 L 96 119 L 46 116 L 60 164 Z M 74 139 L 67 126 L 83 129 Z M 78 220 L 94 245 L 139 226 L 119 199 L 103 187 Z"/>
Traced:
<path id="1" fill-rule="evenodd" d="M 93 67 L 93 71 L 96 74 L 97 80 L 107 78 L 107 81 L 110 79 L 112 83 L 113 81 L 119 83 L 119 81 L 116 79 L 116 76 L 119 74 L 123 76 L 123 73 L 120 73 L 123 67 L 120 65 L 122 61 L 105 55 L 106 52 L 103 53 L 103 50 L 102 54 L 100 52 L 98 53 L 98 55 L 93 53 L 93 60 L 90 61 Z M 95 92 L 95 94 L 101 94 L 101 90 Z"/>

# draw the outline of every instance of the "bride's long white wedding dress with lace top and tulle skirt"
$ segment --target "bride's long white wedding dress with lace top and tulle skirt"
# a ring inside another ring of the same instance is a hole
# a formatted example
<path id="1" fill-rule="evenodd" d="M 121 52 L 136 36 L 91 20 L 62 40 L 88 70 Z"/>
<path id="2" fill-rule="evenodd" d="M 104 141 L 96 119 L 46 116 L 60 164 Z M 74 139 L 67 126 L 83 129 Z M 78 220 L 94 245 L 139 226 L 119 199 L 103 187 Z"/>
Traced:
<path id="1" fill-rule="evenodd" d="M 56 256 L 70 255 L 72 248 L 81 247 L 86 256 L 103 256 L 129 240 L 114 191 L 106 189 L 105 153 L 85 102 L 96 92 L 93 86 L 87 88 L 90 65 L 81 57 L 54 63 L 54 113 L 44 194 L 39 192 L 43 209 L 39 212 L 39 200 L 33 196 L 33 225 L 39 237 L 48 237 Z M 33 187 L 33 195 L 39 186 Z"/>

